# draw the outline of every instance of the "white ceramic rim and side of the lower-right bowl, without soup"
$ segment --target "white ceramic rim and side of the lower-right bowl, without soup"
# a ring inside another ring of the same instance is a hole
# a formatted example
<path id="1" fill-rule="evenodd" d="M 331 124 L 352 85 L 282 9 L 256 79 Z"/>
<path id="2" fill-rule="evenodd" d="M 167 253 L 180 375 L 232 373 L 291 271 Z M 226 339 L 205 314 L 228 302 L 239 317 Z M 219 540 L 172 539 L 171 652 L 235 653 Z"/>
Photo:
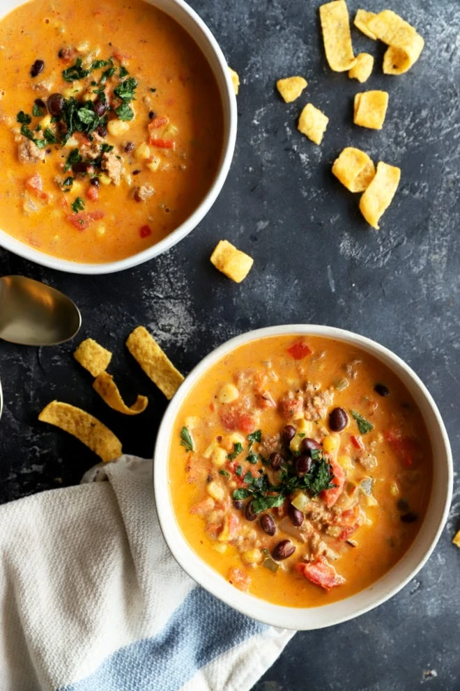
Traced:
<path id="1" fill-rule="evenodd" d="M 367 589 L 339 602 L 321 607 L 283 607 L 260 600 L 231 586 L 213 568 L 210 568 L 183 538 L 174 516 L 169 497 L 169 444 L 171 429 L 185 396 L 200 380 L 202 375 L 219 359 L 243 343 L 266 336 L 282 334 L 309 334 L 339 339 L 371 353 L 387 365 L 406 385 L 424 418 L 431 447 L 436 449 L 436 472 L 433 475 L 431 498 L 420 531 L 404 557 Z M 213 593 L 236 610 L 273 626 L 307 630 L 331 626 L 364 612 L 392 597 L 408 583 L 427 561 L 447 519 L 452 497 L 452 453 L 443 421 L 436 403 L 415 372 L 393 352 L 364 336 L 358 336 L 343 329 L 316 325 L 287 325 L 259 329 L 227 341 L 207 355 L 187 376 L 167 408 L 155 446 L 153 458 L 155 501 L 160 526 L 169 549 L 185 571 L 202 587 Z"/>

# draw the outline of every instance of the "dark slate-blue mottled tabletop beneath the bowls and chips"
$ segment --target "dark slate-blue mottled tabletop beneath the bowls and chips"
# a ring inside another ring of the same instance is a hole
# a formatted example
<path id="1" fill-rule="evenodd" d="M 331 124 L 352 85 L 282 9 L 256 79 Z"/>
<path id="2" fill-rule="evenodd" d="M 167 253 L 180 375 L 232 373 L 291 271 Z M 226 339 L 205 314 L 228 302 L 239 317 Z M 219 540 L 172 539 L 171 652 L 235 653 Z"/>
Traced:
<path id="1" fill-rule="evenodd" d="M 247 329 L 325 323 L 352 329 L 397 352 L 420 375 L 445 420 L 454 463 L 459 442 L 459 4 L 408 0 L 404 10 L 426 40 L 402 77 L 379 72 L 362 87 L 330 72 L 323 58 L 316 3 L 302 0 L 194 0 L 243 84 L 236 155 L 220 199 L 181 244 L 148 264 L 107 277 L 46 270 L 0 250 L 1 274 L 26 274 L 71 295 L 82 309 L 81 338 L 114 352 L 111 371 L 129 400 L 148 394 L 139 418 L 110 411 L 71 357 L 76 343 L 17 348 L 0 343 L 5 410 L 0 427 L 0 499 L 77 483 L 95 458 L 79 442 L 37 422 L 52 398 L 75 403 L 116 429 L 125 451 L 149 456 L 165 401 L 124 350 L 144 324 L 187 372 L 212 348 Z M 359 7 L 351 3 L 351 13 Z M 379 10 L 369 0 L 369 10 Z M 457 47 L 456 47 L 457 40 Z M 355 49 L 380 46 L 353 29 Z M 305 75 L 293 104 L 275 80 Z M 385 127 L 351 121 L 354 93 L 385 88 Z M 311 100 L 330 116 L 323 145 L 296 130 Z M 365 224 L 358 196 L 330 173 L 344 146 L 401 166 L 402 179 L 381 230 Z M 217 240 L 254 256 L 236 285 L 210 265 Z M 419 575 L 389 603 L 355 621 L 299 633 L 254 691 L 406 691 L 460 689 L 459 486 L 440 542 Z M 217 690 L 220 691 L 220 690 Z"/>

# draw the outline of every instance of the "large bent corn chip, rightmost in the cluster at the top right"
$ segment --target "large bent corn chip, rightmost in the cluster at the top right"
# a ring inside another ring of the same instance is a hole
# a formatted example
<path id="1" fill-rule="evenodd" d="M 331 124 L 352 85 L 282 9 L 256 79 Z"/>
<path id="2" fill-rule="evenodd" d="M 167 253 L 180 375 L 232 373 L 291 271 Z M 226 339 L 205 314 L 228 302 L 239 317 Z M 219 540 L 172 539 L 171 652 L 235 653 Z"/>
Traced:
<path id="1" fill-rule="evenodd" d="M 383 56 L 385 75 L 402 75 L 418 60 L 424 40 L 417 31 L 392 10 L 383 10 L 367 22 L 369 31 L 386 43 Z"/>

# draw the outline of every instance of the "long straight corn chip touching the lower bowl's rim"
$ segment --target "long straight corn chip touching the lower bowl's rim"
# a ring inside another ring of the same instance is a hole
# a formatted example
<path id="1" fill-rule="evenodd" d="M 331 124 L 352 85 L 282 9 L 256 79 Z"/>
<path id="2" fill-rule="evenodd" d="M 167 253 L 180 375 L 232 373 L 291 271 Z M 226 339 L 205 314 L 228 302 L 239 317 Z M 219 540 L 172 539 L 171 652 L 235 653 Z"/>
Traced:
<path id="1" fill-rule="evenodd" d="M 164 396 L 172 398 L 184 378 L 147 329 L 143 326 L 136 327 L 128 336 L 126 346 Z"/>

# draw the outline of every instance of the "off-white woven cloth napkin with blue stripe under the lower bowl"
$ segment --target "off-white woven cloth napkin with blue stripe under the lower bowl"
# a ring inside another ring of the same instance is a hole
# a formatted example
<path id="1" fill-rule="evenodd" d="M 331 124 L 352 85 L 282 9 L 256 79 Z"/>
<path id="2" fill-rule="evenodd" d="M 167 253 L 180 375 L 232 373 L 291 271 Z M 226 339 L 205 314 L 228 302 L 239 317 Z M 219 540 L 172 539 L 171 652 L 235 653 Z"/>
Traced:
<path id="1" fill-rule="evenodd" d="M 245 691 L 293 636 L 176 564 L 151 465 L 122 456 L 0 506 L 1 691 Z"/>

